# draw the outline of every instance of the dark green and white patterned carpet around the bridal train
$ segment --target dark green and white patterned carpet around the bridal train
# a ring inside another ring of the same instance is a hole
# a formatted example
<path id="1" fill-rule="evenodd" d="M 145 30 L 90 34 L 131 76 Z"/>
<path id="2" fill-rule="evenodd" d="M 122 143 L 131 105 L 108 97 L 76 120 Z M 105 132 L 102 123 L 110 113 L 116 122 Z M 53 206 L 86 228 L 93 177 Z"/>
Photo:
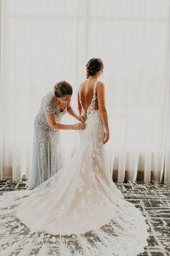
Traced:
<path id="1" fill-rule="evenodd" d="M 150 226 L 148 247 L 140 256 L 170 255 L 170 186 L 163 184 L 116 183 L 125 199 L 133 202 L 147 218 Z M 27 187 L 26 180 L 0 182 L 0 195 L 4 191 L 20 190 Z M 139 234 L 140 235 L 140 234 Z M 4 255 L 5 256 L 5 255 Z"/>

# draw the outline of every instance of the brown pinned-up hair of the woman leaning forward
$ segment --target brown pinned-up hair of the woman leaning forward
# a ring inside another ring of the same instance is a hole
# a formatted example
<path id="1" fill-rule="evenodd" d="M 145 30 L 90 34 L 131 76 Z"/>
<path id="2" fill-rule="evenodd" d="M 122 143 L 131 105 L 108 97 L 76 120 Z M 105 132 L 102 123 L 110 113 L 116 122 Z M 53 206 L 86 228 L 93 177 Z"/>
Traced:
<path id="1" fill-rule="evenodd" d="M 66 81 L 57 82 L 54 86 L 55 96 L 58 98 L 62 98 L 63 96 L 69 94 L 73 94 L 73 88 Z"/>

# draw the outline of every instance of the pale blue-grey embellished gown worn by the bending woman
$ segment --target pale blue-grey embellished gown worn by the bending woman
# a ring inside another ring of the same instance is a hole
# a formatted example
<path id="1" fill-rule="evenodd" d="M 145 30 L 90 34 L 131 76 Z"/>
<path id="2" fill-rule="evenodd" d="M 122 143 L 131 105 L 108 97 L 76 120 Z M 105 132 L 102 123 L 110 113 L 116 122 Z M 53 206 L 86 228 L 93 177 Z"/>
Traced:
<path id="1" fill-rule="evenodd" d="M 60 123 L 66 111 L 66 106 L 62 112 L 58 110 L 53 92 L 42 98 L 40 111 L 35 116 L 32 166 L 28 189 L 39 186 L 63 166 L 60 130 L 50 128 L 45 113 L 55 114 L 56 122 Z"/>

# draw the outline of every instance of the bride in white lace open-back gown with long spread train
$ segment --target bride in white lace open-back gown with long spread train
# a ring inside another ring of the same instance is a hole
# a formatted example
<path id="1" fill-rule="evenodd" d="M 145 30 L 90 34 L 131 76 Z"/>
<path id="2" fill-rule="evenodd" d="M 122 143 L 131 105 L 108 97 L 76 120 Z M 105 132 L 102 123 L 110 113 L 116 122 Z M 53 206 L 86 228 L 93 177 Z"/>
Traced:
<path id="1" fill-rule="evenodd" d="M 1 196 L 0 255 L 135 256 L 148 225 L 112 182 L 104 143 L 109 125 L 101 59 L 86 64 L 78 93 L 86 129 L 71 161 L 32 191 Z"/>

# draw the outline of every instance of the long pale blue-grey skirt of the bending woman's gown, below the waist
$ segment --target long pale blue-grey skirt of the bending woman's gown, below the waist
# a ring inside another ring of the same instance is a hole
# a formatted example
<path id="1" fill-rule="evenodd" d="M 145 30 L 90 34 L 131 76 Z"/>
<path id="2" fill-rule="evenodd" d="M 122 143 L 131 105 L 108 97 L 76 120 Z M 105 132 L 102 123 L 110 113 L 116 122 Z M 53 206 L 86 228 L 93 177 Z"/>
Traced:
<path id="1" fill-rule="evenodd" d="M 60 131 L 51 129 L 35 119 L 32 166 L 28 189 L 34 189 L 63 166 Z"/>

